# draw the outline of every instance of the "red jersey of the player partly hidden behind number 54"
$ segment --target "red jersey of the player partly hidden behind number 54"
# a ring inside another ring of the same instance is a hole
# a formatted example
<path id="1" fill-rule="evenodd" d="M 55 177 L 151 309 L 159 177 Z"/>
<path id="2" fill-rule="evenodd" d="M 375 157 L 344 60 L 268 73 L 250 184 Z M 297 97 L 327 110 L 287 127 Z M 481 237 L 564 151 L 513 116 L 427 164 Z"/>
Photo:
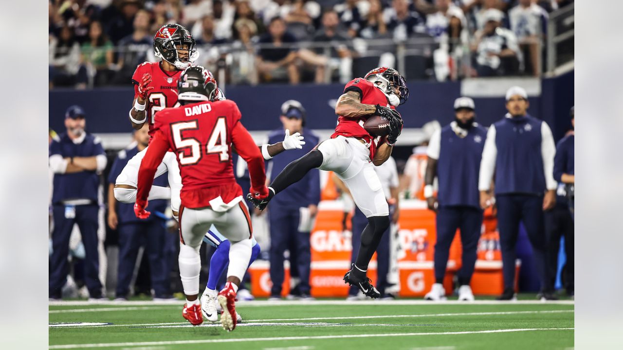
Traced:
<path id="1" fill-rule="evenodd" d="M 157 111 L 167 107 L 177 107 L 178 103 L 178 78 L 181 70 L 165 72 L 161 62 L 143 62 L 134 71 L 132 83 L 134 83 L 134 97 L 138 97 L 138 84 L 143 80 L 145 73 L 151 74 L 153 90 L 147 95 L 145 113 L 150 125 L 150 142 L 154 132 L 154 115 Z"/>

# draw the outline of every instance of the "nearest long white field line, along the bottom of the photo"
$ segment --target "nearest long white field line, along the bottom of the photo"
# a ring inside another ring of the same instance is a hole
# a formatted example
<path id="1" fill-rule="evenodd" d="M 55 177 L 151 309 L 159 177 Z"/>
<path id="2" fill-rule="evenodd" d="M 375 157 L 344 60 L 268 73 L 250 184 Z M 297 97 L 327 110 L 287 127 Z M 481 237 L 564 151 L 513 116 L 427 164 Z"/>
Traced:
<path id="1" fill-rule="evenodd" d="M 64 345 L 52 345 L 50 346 L 50 349 L 119 348 L 121 346 L 158 346 L 158 345 L 208 344 L 208 343 L 240 343 L 240 342 L 249 342 L 249 341 L 378 338 L 378 337 L 405 337 L 405 336 L 440 336 L 440 335 L 510 333 L 510 332 L 530 332 L 530 331 L 566 331 L 566 330 L 574 330 L 574 329 L 575 328 L 515 328 L 515 329 L 490 329 L 487 331 L 461 331 L 461 332 L 343 334 L 343 335 L 335 335 L 335 336 L 298 336 L 298 337 L 239 338 L 239 339 L 196 339 L 196 340 L 173 340 L 173 341 L 144 341 L 144 342 L 135 342 L 135 343 L 64 344 Z"/>

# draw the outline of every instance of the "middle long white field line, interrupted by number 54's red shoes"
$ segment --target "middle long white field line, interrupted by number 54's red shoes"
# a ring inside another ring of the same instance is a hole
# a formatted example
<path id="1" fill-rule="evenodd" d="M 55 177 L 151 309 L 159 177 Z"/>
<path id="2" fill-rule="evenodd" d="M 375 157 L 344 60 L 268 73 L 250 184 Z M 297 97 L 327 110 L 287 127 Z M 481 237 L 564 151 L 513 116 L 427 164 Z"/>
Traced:
<path id="1" fill-rule="evenodd" d="M 310 317 L 310 318 L 272 318 L 272 319 L 243 319 L 245 322 L 271 322 L 271 321 L 316 321 L 320 319 L 371 319 L 371 318 L 416 318 L 416 317 L 446 317 L 446 316 L 495 316 L 495 315 L 522 315 L 535 313 L 573 313 L 574 310 L 535 310 L 535 311 L 492 311 L 480 313 L 434 313 L 417 315 L 373 315 L 373 316 L 345 316 L 345 317 Z M 171 323 L 143 323 L 143 324 L 108 324 L 106 326 L 72 326 L 69 328 L 93 328 L 93 327 L 131 327 L 131 326 L 171 326 L 176 324 L 188 324 L 187 322 Z"/>

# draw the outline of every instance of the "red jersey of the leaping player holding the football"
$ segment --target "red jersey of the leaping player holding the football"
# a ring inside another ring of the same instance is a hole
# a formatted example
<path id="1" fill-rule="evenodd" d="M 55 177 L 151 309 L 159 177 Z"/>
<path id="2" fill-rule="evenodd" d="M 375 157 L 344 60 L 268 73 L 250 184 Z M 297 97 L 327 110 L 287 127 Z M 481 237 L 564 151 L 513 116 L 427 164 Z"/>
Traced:
<path id="1" fill-rule="evenodd" d="M 358 92 L 359 95 L 361 95 L 361 103 L 365 103 L 366 105 L 381 105 L 395 109 L 389 104 L 388 98 L 381 92 L 381 89 L 374 87 L 373 83 L 368 82 L 368 80 L 364 78 L 356 78 L 350 83 L 347 83 L 344 88 L 344 93 L 349 91 Z M 375 138 L 363 128 L 363 123 L 365 123 L 368 118 L 369 116 L 362 116 L 359 118 L 339 116 L 338 126 L 335 127 L 335 133 L 331 135 L 331 138 L 342 135 L 364 140 L 370 145 L 370 159 L 374 158 L 376 146 L 381 141 L 381 136 Z"/>

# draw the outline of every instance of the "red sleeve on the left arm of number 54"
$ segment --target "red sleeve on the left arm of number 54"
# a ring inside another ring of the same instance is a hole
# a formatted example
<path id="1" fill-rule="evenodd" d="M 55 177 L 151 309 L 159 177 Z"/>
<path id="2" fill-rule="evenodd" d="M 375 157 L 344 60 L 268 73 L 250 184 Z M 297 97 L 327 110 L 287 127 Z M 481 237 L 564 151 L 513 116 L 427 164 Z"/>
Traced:
<path id="1" fill-rule="evenodd" d="M 147 148 L 145 157 L 138 169 L 138 184 L 136 186 L 136 202 L 145 202 L 150 194 L 151 185 L 158 165 L 162 162 L 164 154 L 169 149 L 169 141 L 160 130 L 156 130 L 150 146 Z"/>

